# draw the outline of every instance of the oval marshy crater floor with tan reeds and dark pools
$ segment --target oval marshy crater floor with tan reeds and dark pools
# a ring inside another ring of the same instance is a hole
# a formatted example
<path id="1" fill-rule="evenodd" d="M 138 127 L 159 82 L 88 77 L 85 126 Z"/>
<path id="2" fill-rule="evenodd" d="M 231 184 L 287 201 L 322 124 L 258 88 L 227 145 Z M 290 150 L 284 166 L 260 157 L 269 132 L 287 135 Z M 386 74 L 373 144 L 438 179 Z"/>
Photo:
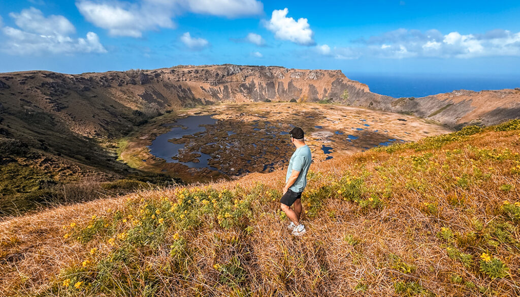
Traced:
<path id="1" fill-rule="evenodd" d="M 124 141 L 121 159 L 186 181 L 237 178 L 287 166 L 302 127 L 314 162 L 450 132 L 427 120 L 332 104 L 202 106 L 156 118 Z"/>

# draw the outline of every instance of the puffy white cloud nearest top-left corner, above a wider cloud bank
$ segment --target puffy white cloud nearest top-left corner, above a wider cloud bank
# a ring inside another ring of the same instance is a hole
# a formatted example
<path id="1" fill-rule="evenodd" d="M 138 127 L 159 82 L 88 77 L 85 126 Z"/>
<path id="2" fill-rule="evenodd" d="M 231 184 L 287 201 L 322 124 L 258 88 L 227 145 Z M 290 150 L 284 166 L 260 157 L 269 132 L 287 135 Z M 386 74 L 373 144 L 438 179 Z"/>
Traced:
<path id="1" fill-rule="evenodd" d="M 9 16 L 15 19 L 16 26 L 28 32 L 44 35 L 67 35 L 76 32 L 73 24 L 67 18 L 55 15 L 44 17 L 42 11 L 34 7 L 23 9 L 19 14 L 10 13 Z"/>

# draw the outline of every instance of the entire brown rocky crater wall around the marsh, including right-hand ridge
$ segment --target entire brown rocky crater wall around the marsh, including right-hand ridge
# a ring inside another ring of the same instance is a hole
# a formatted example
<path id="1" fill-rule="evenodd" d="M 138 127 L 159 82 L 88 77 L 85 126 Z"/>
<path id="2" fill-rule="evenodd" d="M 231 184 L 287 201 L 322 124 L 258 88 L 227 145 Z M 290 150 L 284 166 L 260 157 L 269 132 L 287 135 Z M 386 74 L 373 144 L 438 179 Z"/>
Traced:
<path id="1" fill-rule="evenodd" d="M 0 133 L 20 134 L 17 129 L 22 127 L 36 139 L 46 130 L 106 137 L 180 107 L 324 99 L 414 114 L 450 127 L 490 125 L 519 117 L 520 110 L 517 90 L 393 98 L 370 92 L 367 85 L 349 80 L 340 70 L 211 65 L 81 75 L 29 71 L 0 74 L 0 119 L 4 121 Z"/>

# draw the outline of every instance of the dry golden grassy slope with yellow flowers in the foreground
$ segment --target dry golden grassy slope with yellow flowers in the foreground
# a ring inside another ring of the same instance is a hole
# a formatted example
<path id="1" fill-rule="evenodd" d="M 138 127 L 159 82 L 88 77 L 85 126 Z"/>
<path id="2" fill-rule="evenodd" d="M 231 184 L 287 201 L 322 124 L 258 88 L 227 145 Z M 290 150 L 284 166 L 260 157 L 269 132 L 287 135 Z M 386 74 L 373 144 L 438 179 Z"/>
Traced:
<path id="1" fill-rule="evenodd" d="M 520 121 L 0 222 L 0 295 L 520 294 Z"/>

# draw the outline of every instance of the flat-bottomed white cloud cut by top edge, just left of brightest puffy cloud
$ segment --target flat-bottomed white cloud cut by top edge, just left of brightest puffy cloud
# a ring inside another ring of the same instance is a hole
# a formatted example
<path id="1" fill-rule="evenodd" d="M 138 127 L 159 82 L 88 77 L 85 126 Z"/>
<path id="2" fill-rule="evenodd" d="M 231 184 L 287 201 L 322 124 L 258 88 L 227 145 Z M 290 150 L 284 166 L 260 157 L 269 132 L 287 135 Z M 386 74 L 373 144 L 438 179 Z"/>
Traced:
<path id="1" fill-rule="evenodd" d="M 181 0 L 188 10 L 196 14 L 237 18 L 261 15 L 262 2 L 256 0 Z"/>

